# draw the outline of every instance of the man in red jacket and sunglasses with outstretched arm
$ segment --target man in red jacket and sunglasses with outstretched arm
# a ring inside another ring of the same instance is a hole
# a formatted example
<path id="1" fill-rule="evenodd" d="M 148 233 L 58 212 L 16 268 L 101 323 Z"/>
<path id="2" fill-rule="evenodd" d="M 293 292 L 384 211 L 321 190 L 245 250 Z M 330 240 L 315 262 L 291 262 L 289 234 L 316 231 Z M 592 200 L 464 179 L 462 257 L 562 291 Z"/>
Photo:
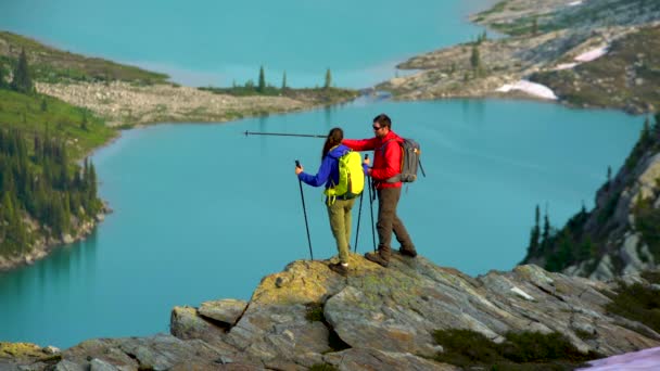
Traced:
<path id="1" fill-rule="evenodd" d="M 373 167 L 368 175 L 373 179 L 378 194 L 378 252 L 367 253 L 368 260 L 378 263 L 383 267 L 390 264 L 392 248 L 392 232 L 401 243 L 399 252 L 404 256 L 416 257 L 417 251 L 403 221 L 396 215 L 396 205 L 401 197 L 401 156 L 403 138 L 392 131 L 392 120 L 388 115 L 380 114 L 373 118 L 373 133 L 371 139 L 344 139 L 343 144 L 355 151 L 373 150 Z M 369 164 L 369 161 L 365 161 Z"/>

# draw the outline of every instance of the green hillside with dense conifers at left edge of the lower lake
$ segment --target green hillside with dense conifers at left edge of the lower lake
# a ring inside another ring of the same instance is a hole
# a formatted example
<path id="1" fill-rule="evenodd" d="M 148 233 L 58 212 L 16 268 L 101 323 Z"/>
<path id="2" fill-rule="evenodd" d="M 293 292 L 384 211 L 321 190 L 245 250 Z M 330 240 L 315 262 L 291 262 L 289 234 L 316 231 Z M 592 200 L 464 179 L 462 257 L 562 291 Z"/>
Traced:
<path id="1" fill-rule="evenodd" d="M 0 270 L 91 232 L 105 206 L 82 159 L 114 136 L 87 110 L 0 88 Z"/>

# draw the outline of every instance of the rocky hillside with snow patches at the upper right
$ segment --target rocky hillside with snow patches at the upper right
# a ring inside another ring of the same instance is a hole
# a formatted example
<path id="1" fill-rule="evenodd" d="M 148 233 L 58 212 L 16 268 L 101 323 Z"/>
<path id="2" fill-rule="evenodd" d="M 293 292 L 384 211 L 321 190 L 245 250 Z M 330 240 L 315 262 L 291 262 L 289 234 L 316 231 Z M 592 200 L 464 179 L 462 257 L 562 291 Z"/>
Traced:
<path id="1" fill-rule="evenodd" d="M 660 3 L 645 0 L 505 0 L 471 21 L 508 35 L 486 35 L 415 56 L 420 69 L 379 86 L 401 100 L 457 97 L 535 98 L 519 81 L 549 87 L 576 106 L 655 112 L 660 104 L 657 42 Z M 597 51 L 602 50 L 602 53 Z M 513 87 L 513 88 L 511 88 Z"/>

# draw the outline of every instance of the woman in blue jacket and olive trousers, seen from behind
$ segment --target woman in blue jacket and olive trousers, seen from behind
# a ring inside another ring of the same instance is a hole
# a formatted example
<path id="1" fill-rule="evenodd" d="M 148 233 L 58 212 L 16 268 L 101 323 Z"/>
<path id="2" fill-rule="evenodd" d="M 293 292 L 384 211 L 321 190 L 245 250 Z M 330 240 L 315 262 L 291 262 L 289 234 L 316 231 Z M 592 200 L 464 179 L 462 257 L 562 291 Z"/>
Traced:
<path id="1" fill-rule="evenodd" d="M 313 176 L 304 172 L 303 167 L 296 167 L 297 178 L 312 187 L 326 184 L 326 189 L 339 184 L 339 158 L 351 149 L 342 144 L 344 131 L 341 128 L 333 128 L 328 133 L 323 150 L 321 152 L 321 166 L 318 172 Z M 366 166 L 366 165 L 365 165 Z M 348 273 L 348 251 L 351 250 L 351 209 L 355 204 L 355 199 L 345 196 L 328 197 L 328 216 L 330 217 L 330 228 L 337 241 L 339 251 L 339 263 L 331 264 L 329 267 L 333 271 L 346 276 Z"/>

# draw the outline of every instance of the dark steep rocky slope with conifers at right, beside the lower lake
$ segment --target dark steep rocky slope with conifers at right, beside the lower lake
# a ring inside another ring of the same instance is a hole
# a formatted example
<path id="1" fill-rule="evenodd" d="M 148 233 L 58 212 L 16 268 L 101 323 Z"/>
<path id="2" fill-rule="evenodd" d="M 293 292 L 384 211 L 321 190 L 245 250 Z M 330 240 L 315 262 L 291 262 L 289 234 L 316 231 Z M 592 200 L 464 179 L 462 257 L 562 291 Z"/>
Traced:
<path id="1" fill-rule="evenodd" d="M 625 164 L 597 191 L 594 209 L 575 214 L 523 263 L 591 279 L 659 267 L 660 114 L 646 120 Z"/>

